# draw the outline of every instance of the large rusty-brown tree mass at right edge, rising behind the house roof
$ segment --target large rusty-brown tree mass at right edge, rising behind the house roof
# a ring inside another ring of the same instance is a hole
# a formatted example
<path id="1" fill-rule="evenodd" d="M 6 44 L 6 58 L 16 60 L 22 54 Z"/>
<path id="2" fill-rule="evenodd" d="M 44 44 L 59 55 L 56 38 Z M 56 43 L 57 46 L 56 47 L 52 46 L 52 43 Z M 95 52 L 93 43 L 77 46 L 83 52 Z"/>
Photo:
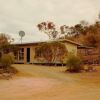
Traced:
<path id="1" fill-rule="evenodd" d="M 99 47 L 100 44 L 100 23 L 95 22 L 84 29 L 85 34 L 80 34 L 75 40 L 80 41 L 84 45 Z"/>

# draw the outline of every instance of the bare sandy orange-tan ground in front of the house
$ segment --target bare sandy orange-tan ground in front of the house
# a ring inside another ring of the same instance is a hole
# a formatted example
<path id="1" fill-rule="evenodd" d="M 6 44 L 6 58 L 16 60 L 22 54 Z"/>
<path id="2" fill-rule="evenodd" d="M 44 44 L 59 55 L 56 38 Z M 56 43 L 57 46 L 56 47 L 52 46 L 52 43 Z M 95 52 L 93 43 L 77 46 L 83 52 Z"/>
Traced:
<path id="1" fill-rule="evenodd" d="M 97 72 L 65 73 L 65 67 L 13 65 L 19 73 L 0 80 L 0 100 L 100 100 Z"/>

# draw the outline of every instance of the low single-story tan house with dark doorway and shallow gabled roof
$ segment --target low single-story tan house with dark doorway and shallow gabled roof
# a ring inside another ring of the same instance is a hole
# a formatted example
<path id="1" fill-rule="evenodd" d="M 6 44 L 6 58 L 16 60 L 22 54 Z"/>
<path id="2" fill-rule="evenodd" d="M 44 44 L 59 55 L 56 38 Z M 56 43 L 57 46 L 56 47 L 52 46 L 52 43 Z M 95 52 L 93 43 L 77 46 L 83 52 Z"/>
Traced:
<path id="1" fill-rule="evenodd" d="M 36 48 L 40 44 L 54 42 L 54 41 L 63 43 L 67 51 L 73 52 L 75 55 L 77 55 L 78 46 L 81 46 L 81 44 L 73 42 L 71 40 L 67 40 L 67 39 L 15 44 L 18 48 L 20 48 L 18 52 L 14 53 L 15 63 L 38 63 L 38 61 L 35 60 Z"/>

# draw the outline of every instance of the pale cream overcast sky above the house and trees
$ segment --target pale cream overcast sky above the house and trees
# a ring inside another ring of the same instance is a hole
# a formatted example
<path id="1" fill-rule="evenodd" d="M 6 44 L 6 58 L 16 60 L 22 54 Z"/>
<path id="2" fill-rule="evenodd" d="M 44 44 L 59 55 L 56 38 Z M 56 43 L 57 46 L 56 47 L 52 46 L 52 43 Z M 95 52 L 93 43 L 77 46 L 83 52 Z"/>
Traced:
<path id="1" fill-rule="evenodd" d="M 20 42 L 20 30 L 25 31 L 23 42 L 44 41 L 48 36 L 38 31 L 38 23 L 93 23 L 99 12 L 100 0 L 0 0 L 0 32 L 9 34 L 15 42 Z"/>

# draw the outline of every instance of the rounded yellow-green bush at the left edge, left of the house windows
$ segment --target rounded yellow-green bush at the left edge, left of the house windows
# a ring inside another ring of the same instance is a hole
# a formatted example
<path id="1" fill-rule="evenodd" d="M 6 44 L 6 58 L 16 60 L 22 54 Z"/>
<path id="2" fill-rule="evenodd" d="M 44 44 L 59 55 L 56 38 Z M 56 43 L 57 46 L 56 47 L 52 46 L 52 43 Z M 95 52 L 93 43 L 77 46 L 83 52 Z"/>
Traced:
<path id="1" fill-rule="evenodd" d="M 4 54 L 1 57 L 0 63 L 4 69 L 11 66 L 14 63 L 14 55 L 12 53 Z"/>

